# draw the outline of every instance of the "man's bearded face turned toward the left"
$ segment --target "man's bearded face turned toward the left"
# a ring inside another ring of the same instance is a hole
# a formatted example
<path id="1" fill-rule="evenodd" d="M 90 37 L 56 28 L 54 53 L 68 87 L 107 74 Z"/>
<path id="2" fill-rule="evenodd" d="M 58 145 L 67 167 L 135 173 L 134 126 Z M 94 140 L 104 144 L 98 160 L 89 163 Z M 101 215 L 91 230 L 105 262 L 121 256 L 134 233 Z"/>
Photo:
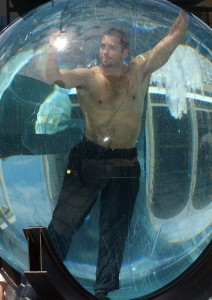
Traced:
<path id="1" fill-rule="evenodd" d="M 99 57 L 105 68 L 119 67 L 127 57 L 128 50 L 122 49 L 120 39 L 112 35 L 104 35 L 101 41 Z"/>

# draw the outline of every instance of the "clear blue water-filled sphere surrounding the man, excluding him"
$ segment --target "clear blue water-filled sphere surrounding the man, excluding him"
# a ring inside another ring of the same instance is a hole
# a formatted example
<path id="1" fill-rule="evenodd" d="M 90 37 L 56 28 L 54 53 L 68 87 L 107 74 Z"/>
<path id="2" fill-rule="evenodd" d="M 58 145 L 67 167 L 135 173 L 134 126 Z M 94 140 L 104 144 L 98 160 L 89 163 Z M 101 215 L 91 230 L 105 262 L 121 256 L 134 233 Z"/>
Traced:
<path id="1" fill-rule="evenodd" d="M 29 226 L 48 226 L 71 149 L 85 133 L 76 89 L 45 80 L 50 35 L 61 31 L 63 69 L 99 64 L 107 28 L 130 38 L 126 63 L 152 49 L 179 8 L 167 1 L 51 1 L 0 35 L 0 256 L 28 270 Z M 212 31 L 194 16 L 182 44 L 151 76 L 136 147 L 140 188 L 112 299 L 157 291 L 180 276 L 211 238 Z M 99 199 L 74 235 L 64 264 L 91 293 Z"/>

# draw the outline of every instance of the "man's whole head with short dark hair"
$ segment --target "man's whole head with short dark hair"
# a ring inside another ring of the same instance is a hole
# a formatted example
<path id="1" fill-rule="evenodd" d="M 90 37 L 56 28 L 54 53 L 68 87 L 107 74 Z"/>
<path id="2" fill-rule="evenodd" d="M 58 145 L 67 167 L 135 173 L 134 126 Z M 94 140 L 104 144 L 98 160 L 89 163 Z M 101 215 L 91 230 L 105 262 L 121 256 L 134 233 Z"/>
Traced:
<path id="1" fill-rule="evenodd" d="M 111 28 L 103 35 L 99 51 L 103 67 L 120 66 L 123 64 L 128 52 L 129 40 L 123 31 Z"/>

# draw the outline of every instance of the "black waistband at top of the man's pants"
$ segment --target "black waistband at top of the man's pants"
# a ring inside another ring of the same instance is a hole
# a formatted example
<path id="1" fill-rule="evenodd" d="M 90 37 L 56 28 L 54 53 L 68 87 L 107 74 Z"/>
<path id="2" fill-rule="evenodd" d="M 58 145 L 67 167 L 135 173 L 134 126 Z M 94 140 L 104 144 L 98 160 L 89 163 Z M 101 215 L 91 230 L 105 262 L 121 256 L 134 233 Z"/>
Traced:
<path id="1" fill-rule="evenodd" d="M 111 158 L 123 158 L 123 159 L 132 159 L 137 157 L 137 149 L 112 149 L 108 147 L 100 146 L 86 137 L 81 141 L 86 151 L 87 158 L 96 158 L 96 159 L 111 159 Z"/>

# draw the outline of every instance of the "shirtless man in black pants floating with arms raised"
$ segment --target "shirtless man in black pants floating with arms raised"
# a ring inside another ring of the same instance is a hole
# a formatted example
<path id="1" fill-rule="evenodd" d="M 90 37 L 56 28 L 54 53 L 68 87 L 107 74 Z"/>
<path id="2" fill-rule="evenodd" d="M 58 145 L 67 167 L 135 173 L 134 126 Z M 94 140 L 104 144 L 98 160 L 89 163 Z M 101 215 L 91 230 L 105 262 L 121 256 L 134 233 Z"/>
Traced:
<path id="1" fill-rule="evenodd" d="M 77 89 L 86 136 L 71 151 L 64 183 L 48 227 L 61 259 L 71 238 L 94 205 L 99 192 L 99 253 L 94 290 L 99 299 L 119 288 L 125 240 L 139 190 L 140 166 L 135 148 L 141 129 L 144 96 L 152 72 L 162 67 L 182 41 L 188 18 L 181 11 L 171 30 L 152 50 L 128 65 L 129 42 L 122 31 L 102 37 L 101 65 L 60 70 L 50 38 L 46 79 Z"/>

